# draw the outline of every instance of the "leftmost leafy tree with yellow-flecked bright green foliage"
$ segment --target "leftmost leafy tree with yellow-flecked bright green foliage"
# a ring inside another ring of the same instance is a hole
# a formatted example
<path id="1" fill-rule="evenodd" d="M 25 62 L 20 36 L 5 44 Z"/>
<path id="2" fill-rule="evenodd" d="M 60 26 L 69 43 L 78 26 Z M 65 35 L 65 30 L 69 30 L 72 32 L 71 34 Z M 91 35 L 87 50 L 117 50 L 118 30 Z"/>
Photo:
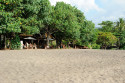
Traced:
<path id="1" fill-rule="evenodd" d="M 21 33 L 20 23 L 18 19 L 21 13 L 21 1 L 22 0 L 2 0 L 0 2 L 0 33 L 4 35 L 5 48 L 6 48 L 6 36 L 14 35 L 15 33 Z"/>

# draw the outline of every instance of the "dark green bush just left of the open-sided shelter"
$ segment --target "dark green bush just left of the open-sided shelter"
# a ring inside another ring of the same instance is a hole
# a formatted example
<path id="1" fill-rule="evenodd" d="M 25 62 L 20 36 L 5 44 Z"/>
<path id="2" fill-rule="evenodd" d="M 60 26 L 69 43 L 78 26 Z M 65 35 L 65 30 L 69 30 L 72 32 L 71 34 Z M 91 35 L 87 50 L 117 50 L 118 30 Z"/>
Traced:
<path id="1" fill-rule="evenodd" d="M 20 37 L 18 35 L 16 35 L 13 39 L 11 39 L 10 49 L 18 50 L 18 49 L 20 49 L 20 47 L 21 47 Z"/>

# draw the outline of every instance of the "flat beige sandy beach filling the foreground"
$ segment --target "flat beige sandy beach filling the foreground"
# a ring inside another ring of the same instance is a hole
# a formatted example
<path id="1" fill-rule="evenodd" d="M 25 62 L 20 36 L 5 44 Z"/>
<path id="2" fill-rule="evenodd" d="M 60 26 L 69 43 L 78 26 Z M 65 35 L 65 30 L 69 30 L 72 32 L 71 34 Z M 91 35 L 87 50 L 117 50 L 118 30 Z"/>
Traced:
<path id="1" fill-rule="evenodd" d="M 125 83 L 125 51 L 0 51 L 0 83 Z"/>

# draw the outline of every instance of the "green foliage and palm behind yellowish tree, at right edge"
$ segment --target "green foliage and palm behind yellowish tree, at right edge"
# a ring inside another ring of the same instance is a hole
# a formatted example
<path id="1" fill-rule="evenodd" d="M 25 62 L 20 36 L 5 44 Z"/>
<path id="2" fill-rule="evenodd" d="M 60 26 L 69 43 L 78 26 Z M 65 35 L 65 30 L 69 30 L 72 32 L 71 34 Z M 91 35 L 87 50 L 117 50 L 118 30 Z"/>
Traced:
<path id="1" fill-rule="evenodd" d="M 124 18 L 119 18 L 117 22 L 112 21 L 102 21 L 99 25 L 102 26 L 102 28 L 99 28 L 102 32 L 111 32 L 113 35 L 117 37 L 117 47 L 123 48 L 124 44 L 124 38 L 123 38 L 123 31 L 125 30 L 125 20 Z M 122 41 L 123 40 L 123 41 Z"/>

